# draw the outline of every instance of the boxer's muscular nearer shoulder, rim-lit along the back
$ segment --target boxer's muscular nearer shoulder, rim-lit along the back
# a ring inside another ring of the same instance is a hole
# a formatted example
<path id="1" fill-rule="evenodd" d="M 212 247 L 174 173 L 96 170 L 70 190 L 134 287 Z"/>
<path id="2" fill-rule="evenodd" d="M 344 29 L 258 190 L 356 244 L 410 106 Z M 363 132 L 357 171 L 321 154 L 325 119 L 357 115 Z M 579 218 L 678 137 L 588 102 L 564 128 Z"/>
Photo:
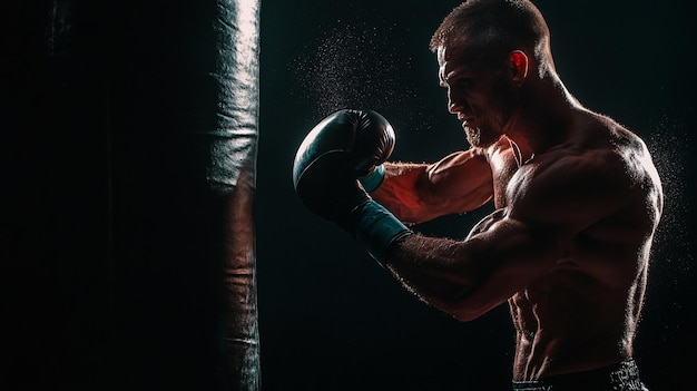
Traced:
<path id="1" fill-rule="evenodd" d="M 589 118 L 579 130 L 586 134 L 575 134 L 521 167 L 507 188 L 513 216 L 575 234 L 621 211 L 637 212 L 637 205 L 660 193 L 641 139 L 601 121 Z"/>

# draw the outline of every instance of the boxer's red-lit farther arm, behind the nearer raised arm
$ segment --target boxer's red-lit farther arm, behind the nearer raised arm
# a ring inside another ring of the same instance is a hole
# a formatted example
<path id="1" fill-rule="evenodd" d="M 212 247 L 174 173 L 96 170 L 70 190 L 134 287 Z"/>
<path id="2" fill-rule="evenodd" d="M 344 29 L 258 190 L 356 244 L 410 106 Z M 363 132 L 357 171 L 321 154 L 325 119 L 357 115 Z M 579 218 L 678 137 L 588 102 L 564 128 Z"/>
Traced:
<path id="1" fill-rule="evenodd" d="M 406 223 L 473 211 L 493 196 L 491 168 L 481 149 L 451 154 L 434 164 L 385 163 L 371 196 Z"/>

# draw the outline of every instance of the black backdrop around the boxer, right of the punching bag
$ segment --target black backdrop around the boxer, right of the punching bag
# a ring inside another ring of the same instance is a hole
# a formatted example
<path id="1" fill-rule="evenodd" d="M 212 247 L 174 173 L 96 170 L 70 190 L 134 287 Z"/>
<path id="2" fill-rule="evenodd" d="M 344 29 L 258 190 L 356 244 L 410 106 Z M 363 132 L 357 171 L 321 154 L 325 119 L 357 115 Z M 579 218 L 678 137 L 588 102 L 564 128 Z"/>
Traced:
<path id="1" fill-rule="evenodd" d="M 419 302 L 359 244 L 304 209 L 291 167 L 305 134 L 335 109 L 394 126 L 393 159 L 465 148 L 428 43 L 458 1 L 264 1 L 257 256 L 266 390 L 504 390 L 508 309 L 459 323 Z M 695 349 L 696 60 L 687 1 L 537 1 L 557 69 L 588 108 L 639 134 L 666 192 L 636 356 L 646 383 L 678 390 Z M 461 237 L 481 215 L 419 227 Z"/>

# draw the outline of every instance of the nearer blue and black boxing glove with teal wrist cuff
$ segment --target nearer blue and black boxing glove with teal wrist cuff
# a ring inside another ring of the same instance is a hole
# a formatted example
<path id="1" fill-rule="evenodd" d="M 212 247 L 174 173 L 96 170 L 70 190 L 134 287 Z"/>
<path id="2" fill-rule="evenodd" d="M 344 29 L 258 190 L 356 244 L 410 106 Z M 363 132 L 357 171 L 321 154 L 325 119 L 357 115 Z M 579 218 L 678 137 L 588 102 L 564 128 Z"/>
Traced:
<path id="1" fill-rule="evenodd" d="M 293 165 L 303 204 L 351 233 L 383 266 L 387 248 L 412 233 L 365 190 L 380 185 L 394 141 L 380 114 L 340 110 L 307 134 Z"/>

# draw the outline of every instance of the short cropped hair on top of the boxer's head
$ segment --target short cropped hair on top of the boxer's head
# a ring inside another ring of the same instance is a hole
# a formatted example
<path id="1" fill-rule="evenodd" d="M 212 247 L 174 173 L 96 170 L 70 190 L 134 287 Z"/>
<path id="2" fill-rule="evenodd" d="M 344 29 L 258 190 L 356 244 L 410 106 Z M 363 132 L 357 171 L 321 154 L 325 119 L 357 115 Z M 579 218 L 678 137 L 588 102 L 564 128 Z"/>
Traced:
<path id="1" fill-rule="evenodd" d="M 430 49 L 436 51 L 464 37 L 477 47 L 529 49 L 538 61 L 551 60 L 549 28 L 529 0 L 467 0 L 443 19 Z"/>

